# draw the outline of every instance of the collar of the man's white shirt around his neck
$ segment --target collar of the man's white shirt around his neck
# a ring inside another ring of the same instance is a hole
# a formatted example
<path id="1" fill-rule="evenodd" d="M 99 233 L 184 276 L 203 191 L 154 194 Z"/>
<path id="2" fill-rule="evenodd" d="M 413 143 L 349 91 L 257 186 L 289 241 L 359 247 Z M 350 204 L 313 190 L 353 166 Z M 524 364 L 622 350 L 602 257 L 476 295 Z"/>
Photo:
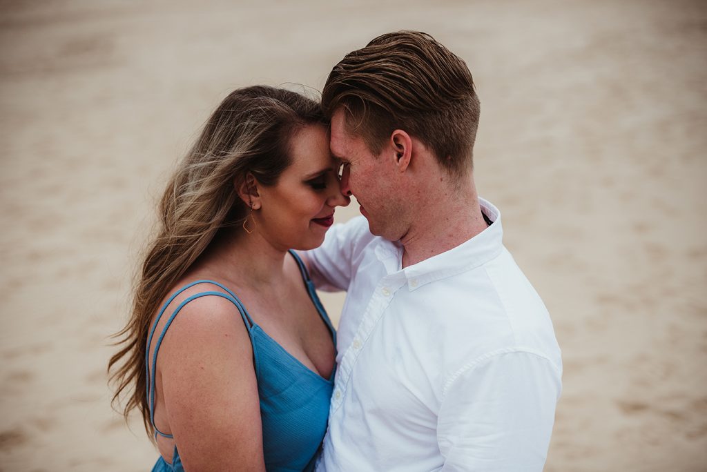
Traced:
<path id="1" fill-rule="evenodd" d="M 493 222 L 488 228 L 457 247 L 405 269 L 401 270 L 402 244 L 381 238 L 380 244 L 375 248 L 375 254 L 385 266 L 387 274 L 390 276 L 402 271 L 407 278 L 409 290 L 416 290 L 427 283 L 475 269 L 498 256 L 503 249 L 501 212 L 484 199 L 480 198 L 479 204 L 481 211 Z"/>

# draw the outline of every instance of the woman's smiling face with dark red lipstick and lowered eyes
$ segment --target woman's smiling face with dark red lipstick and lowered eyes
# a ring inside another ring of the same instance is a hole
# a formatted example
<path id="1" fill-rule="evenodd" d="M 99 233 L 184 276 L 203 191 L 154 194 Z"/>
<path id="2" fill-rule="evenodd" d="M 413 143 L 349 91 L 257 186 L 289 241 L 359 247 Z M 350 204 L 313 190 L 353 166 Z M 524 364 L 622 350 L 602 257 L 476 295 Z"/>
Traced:
<path id="1" fill-rule="evenodd" d="M 308 125 L 290 140 L 292 164 L 273 187 L 258 186 L 260 208 L 255 225 L 279 249 L 312 249 L 324 242 L 334 223 L 334 207 L 349 204 L 341 194 L 339 163 L 329 152 L 322 125 Z"/>

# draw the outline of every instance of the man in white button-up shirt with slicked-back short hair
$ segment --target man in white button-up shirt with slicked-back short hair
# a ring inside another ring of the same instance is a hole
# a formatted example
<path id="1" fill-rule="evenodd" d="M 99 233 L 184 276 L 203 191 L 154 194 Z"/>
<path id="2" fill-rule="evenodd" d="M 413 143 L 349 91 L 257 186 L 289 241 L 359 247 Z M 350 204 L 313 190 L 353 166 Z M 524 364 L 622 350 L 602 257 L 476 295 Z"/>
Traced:
<path id="1" fill-rule="evenodd" d="M 319 288 L 348 292 L 318 470 L 541 471 L 560 350 L 474 187 L 466 64 L 382 35 L 334 66 L 322 106 L 363 217 L 307 254 Z"/>

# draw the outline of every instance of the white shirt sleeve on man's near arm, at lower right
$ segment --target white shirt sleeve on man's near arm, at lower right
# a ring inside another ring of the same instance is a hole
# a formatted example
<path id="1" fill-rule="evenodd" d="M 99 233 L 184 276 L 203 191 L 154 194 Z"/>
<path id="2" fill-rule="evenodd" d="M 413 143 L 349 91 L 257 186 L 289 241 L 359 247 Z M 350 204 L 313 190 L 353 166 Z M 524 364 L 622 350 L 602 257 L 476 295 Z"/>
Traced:
<path id="1" fill-rule="evenodd" d="M 541 472 L 561 369 L 542 355 L 489 355 L 452 375 L 438 416 L 445 472 Z"/>

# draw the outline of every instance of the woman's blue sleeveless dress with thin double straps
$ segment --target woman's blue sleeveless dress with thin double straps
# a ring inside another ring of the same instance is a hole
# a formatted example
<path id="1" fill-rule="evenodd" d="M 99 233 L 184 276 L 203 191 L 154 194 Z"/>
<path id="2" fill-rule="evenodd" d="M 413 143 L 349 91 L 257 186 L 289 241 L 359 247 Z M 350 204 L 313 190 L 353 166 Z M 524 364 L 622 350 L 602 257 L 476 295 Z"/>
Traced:
<path id="1" fill-rule="evenodd" d="M 312 303 L 314 303 L 317 312 L 319 312 L 327 325 L 329 332 L 332 334 L 334 346 L 336 346 L 336 333 L 331 321 L 329 321 L 329 317 L 327 317 L 327 312 L 322 306 L 322 302 L 317 297 L 307 269 L 305 269 L 303 262 L 295 252 L 290 251 L 290 254 L 297 261 Z M 334 387 L 334 372 L 332 371 L 329 379 L 325 379 L 303 365 L 253 322 L 243 303 L 228 288 L 214 281 L 196 281 L 177 290 L 160 310 L 150 330 L 147 346 L 151 346 L 156 326 L 170 302 L 184 290 L 197 284 L 216 285 L 224 290 L 225 293 L 209 290 L 188 297 L 177 306 L 160 333 L 152 356 L 151 372 L 148 370 L 147 383 L 150 419 L 153 427 L 155 426 L 154 401 L 157 354 L 170 324 L 172 324 L 180 310 L 192 300 L 206 296 L 223 297 L 232 302 L 238 312 L 240 312 L 252 344 L 260 399 L 265 467 L 268 471 L 274 472 L 314 470 L 315 461 L 320 453 L 322 439 L 327 430 L 329 400 Z M 146 365 L 149 365 L 148 362 L 149 350 L 146 354 Z M 173 437 L 160 432 L 157 427 L 155 427 L 155 431 L 155 436 Z M 238 464 L 233 464 L 233 469 L 238 469 Z M 172 464 L 160 457 L 152 470 L 153 472 L 183 472 L 184 468 L 177 452 L 177 447 L 175 446 L 174 449 Z"/>

